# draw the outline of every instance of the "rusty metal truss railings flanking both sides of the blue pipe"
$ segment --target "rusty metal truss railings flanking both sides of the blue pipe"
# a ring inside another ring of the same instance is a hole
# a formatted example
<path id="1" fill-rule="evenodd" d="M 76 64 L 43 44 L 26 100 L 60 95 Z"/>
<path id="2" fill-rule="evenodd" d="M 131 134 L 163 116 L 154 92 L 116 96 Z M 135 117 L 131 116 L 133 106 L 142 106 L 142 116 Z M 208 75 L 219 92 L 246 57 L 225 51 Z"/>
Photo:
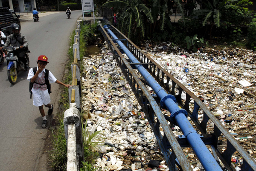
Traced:
<path id="1" fill-rule="evenodd" d="M 107 33 L 106 29 L 101 25 L 98 27 L 99 31 L 102 32 L 112 53 L 119 63 L 127 81 L 129 82 L 134 94 L 137 97 L 143 111 L 145 112 L 148 121 L 153 129 L 153 132 L 157 138 L 166 162 L 169 165 L 169 169 L 175 171 L 176 166 L 182 170 L 191 170 L 191 167 L 182 152 L 181 147 L 189 146 L 186 137 L 183 135 L 175 137 L 170 129 L 172 122 L 169 116 L 163 115 L 158 104 L 157 97 L 153 98 L 152 95 L 145 88 L 147 81 L 145 79 L 140 79 L 136 75 L 133 63 L 129 63 L 129 59 L 122 55 L 122 49 L 116 46 L 116 41 L 122 41 L 123 44 L 130 50 L 130 52 L 141 62 L 149 73 L 154 77 L 154 79 L 166 90 L 167 93 L 174 95 L 177 99 L 177 103 L 183 109 L 188 112 L 189 118 L 198 128 L 200 132 L 201 140 L 205 145 L 210 146 L 212 150 L 212 156 L 216 161 L 221 161 L 224 164 L 224 168 L 228 171 L 236 171 L 233 163 L 231 163 L 231 158 L 234 152 L 238 152 L 244 159 L 241 171 L 256 171 L 256 162 L 253 158 L 243 149 L 237 140 L 228 132 L 226 128 L 218 121 L 218 119 L 212 114 L 212 112 L 204 105 L 204 103 L 199 99 L 194 93 L 188 90 L 183 84 L 181 84 L 176 78 L 174 78 L 170 73 L 164 70 L 157 62 L 151 59 L 147 54 L 143 52 L 140 48 L 134 45 L 131 40 L 129 40 L 124 34 L 113 27 L 113 25 L 108 25 L 108 30 L 111 31 L 118 37 L 118 39 L 112 39 Z M 178 87 L 178 92 L 175 92 L 175 87 Z M 186 100 L 182 101 L 181 94 L 186 94 Z M 191 107 L 191 99 L 194 100 L 194 107 Z M 159 101 L 160 99 L 158 99 Z M 198 112 L 204 113 L 203 120 L 200 122 L 198 120 Z M 157 120 L 155 121 L 155 118 Z M 212 121 L 214 123 L 214 129 L 209 133 L 207 129 L 207 122 Z M 168 124 L 170 123 L 170 125 Z M 164 131 L 164 135 L 160 133 L 160 127 Z M 227 140 L 227 149 L 222 152 L 219 147 L 218 140 L 219 137 L 225 137 Z M 204 155 L 204 154 L 202 154 Z"/>

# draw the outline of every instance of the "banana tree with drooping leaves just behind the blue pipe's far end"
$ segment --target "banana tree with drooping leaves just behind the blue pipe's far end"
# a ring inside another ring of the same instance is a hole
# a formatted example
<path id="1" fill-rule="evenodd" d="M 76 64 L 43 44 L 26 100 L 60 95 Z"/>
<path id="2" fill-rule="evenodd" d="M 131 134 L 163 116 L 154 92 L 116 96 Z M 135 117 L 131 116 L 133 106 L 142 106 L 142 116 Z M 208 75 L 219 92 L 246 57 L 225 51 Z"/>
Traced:
<path id="1" fill-rule="evenodd" d="M 150 9 L 141 0 L 114 0 L 104 3 L 102 6 L 111 8 L 123 8 L 125 11 L 119 17 L 119 29 L 130 38 L 137 29 L 140 30 L 142 37 L 145 37 L 145 24 L 153 23 Z"/>

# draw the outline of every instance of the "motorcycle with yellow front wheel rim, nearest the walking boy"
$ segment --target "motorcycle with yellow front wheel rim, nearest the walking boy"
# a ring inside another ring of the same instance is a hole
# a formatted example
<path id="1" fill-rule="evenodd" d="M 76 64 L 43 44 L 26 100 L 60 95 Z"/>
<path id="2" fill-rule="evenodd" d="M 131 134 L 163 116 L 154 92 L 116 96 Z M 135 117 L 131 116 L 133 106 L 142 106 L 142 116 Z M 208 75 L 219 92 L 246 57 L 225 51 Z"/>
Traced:
<path id="1" fill-rule="evenodd" d="M 29 50 L 28 52 L 26 52 L 25 54 L 25 58 L 26 58 L 26 64 L 27 64 L 27 69 L 25 69 L 25 66 L 23 64 L 23 62 L 21 62 L 17 55 L 15 55 L 15 50 L 20 49 L 20 47 L 12 47 L 9 46 L 7 48 L 5 48 L 5 50 L 7 52 L 9 52 L 6 56 L 6 61 L 8 63 L 7 65 L 7 76 L 8 76 L 8 80 L 10 81 L 11 84 L 15 84 L 17 82 L 17 75 L 18 73 L 20 73 L 21 71 L 26 71 L 29 69 Z"/>

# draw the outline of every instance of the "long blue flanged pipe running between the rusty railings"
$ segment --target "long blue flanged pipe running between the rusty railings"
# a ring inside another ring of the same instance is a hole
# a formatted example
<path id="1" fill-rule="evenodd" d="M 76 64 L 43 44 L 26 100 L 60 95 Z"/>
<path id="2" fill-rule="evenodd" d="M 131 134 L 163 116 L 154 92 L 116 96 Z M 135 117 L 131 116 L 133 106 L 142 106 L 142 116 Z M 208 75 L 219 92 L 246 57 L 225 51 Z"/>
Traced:
<path id="1" fill-rule="evenodd" d="M 113 39 L 118 39 L 113 32 L 108 29 L 105 25 L 104 28 L 107 29 L 108 33 L 111 34 Z M 122 50 L 126 53 L 128 58 L 133 63 L 140 63 L 128 50 L 125 45 L 122 44 L 120 40 L 116 40 L 117 44 L 122 48 Z M 169 110 L 171 113 L 171 121 L 176 123 L 186 139 L 188 140 L 190 146 L 195 151 L 199 161 L 203 165 L 206 171 L 222 171 L 221 167 L 218 165 L 210 151 L 205 146 L 204 142 L 199 137 L 198 133 L 195 131 L 191 123 L 188 121 L 187 112 L 184 109 L 180 109 L 176 104 L 176 98 L 173 95 L 169 95 L 166 91 L 157 83 L 157 81 L 151 76 L 150 73 L 143 67 L 141 64 L 134 65 L 140 74 L 145 78 L 150 87 L 154 90 L 157 96 L 161 99 L 160 104 L 162 107 Z"/>

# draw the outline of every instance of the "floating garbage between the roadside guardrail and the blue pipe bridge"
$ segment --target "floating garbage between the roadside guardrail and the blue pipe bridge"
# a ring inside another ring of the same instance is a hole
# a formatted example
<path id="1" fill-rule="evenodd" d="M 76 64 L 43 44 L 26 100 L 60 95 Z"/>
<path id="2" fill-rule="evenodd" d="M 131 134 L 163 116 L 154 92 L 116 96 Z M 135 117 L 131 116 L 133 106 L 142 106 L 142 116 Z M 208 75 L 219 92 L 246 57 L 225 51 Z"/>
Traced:
<path id="1" fill-rule="evenodd" d="M 84 57 L 82 106 L 87 131 L 104 137 L 95 167 L 106 171 L 168 171 L 144 112 L 107 46 Z M 129 170 L 130 169 L 130 170 Z"/>

